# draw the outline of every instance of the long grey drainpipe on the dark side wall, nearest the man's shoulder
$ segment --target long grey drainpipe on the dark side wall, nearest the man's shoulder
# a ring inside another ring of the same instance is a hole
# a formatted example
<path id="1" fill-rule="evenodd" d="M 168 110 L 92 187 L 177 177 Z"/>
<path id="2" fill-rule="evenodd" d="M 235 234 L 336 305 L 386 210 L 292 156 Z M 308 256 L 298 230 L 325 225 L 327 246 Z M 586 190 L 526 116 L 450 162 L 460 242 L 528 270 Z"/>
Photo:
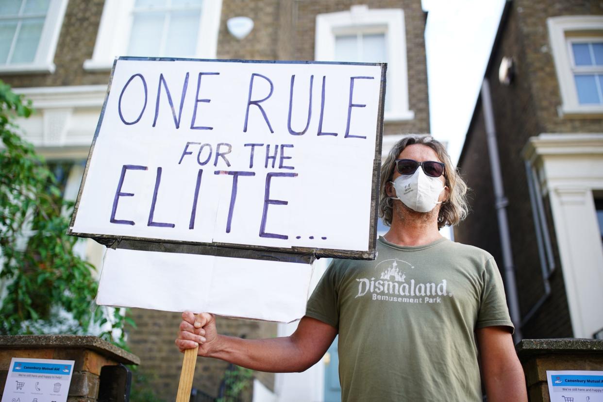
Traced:
<path id="1" fill-rule="evenodd" d="M 494 186 L 494 202 L 498 218 L 500 248 L 502 250 L 502 262 L 504 265 L 503 272 L 505 284 L 507 285 L 507 301 L 509 303 L 511 321 L 513 321 L 513 325 L 515 325 L 513 340 L 517 344 L 517 342 L 522 339 L 521 316 L 519 312 L 519 299 L 517 298 L 513 254 L 511 253 L 511 236 L 509 234 L 509 225 L 507 221 L 508 200 L 507 197 L 505 197 L 505 191 L 502 187 L 502 174 L 500 173 L 500 160 L 496 143 L 496 128 L 494 127 L 494 113 L 492 110 L 492 99 L 490 97 L 490 85 L 485 78 L 482 83 L 481 95 L 486 126 L 486 138 L 488 140 L 488 156 L 490 157 L 490 170 L 492 172 L 492 184 Z"/>

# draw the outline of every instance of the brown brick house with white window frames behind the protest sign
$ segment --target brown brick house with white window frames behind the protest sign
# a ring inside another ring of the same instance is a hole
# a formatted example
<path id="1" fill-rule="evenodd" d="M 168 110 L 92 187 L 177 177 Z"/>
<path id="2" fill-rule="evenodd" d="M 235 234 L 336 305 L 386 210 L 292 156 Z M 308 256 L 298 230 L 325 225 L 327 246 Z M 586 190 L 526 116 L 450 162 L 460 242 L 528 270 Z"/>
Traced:
<path id="1" fill-rule="evenodd" d="M 48 7 L 35 10 L 34 14 L 28 11 L 25 1 L 14 10 L 0 14 L 0 18 L 10 24 L 14 22 L 15 27 L 12 39 L 5 43 L 6 54 L 0 54 L 4 57 L 0 60 L 0 79 L 33 100 L 36 113 L 19 125 L 49 163 L 72 163 L 71 171 L 66 175 L 66 196 L 75 198 L 103 105 L 113 57 L 130 55 L 131 49 L 136 50 L 136 45 L 140 45 L 133 39 L 136 33 L 153 32 L 144 31 L 144 24 L 136 25 L 137 18 L 142 18 L 140 16 L 149 10 L 134 0 L 48 0 L 41 3 Z M 197 4 L 200 3 L 190 1 L 183 9 L 189 15 L 201 13 L 194 26 L 200 32 L 196 50 L 182 55 L 170 54 L 168 49 L 152 55 L 335 60 L 336 55 L 325 50 L 324 43 L 330 41 L 338 49 L 338 40 L 344 38 L 347 43 L 352 40 L 356 53 L 348 54 L 349 57 L 343 60 L 390 63 L 388 96 L 391 107 L 387 110 L 384 134 L 394 135 L 388 137 L 390 140 L 384 140 L 384 149 L 399 137 L 398 134 L 429 132 L 426 16 L 420 0 L 206 0 L 203 11 L 199 11 Z M 157 1 L 155 11 L 169 14 L 172 12 L 170 4 L 168 0 Z M 244 39 L 236 39 L 227 28 L 227 20 L 236 16 L 250 17 L 254 22 L 253 30 Z M 37 37 L 35 30 L 31 34 L 33 39 L 20 36 L 19 30 L 27 24 L 38 24 Z M 358 43 L 369 39 L 382 46 L 385 60 L 371 60 L 370 55 L 358 50 L 362 48 Z M 20 45 L 22 40 L 30 40 L 28 43 L 33 50 L 18 58 L 16 49 L 23 46 Z M 37 45 L 31 40 L 37 41 Z M 319 51 L 321 55 L 317 57 Z M 96 266 L 101 265 L 102 246 L 92 240 L 83 240 L 81 252 Z M 133 353 L 140 356 L 140 371 L 154 378 L 152 386 L 157 397 L 171 400 L 182 365 L 182 355 L 174 346 L 180 315 L 139 309 L 132 309 L 130 314 L 137 328 L 128 329 L 128 342 Z M 219 319 L 218 328 L 223 333 L 247 338 L 277 334 L 276 324 L 226 318 Z M 227 363 L 219 360 L 200 359 L 194 387 L 215 396 L 226 366 Z M 257 373 L 256 377 L 268 389 L 274 390 L 273 374 Z M 312 381 L 314 383 L 309 386 L 320 389 L 323 386 L 320 378 Z M 278 378 L 276 382 L 279 382 Z M 286 394 L 282 389 L 276 391 L 276 397 L 279 392 Z"/>

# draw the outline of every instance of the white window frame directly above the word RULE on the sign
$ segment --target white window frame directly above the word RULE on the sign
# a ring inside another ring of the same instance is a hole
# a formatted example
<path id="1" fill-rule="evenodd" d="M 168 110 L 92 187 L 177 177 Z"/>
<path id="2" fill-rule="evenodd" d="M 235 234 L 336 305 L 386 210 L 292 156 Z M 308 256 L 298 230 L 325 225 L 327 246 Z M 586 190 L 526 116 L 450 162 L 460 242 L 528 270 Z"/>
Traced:
<path id="1" fill-rule="evenodd" d="M 314 58 L 333 61 L 335 38 L 354 33 L 385 33 L 388 57 L 387 93 L 391 110 L 385 111 L 385 121 L 414 119 L 408 105 L 408 66 L 406 64 L 406 30 L 404 11 L 401 8 L 369 10 L 366 5 L 354 5 L 350 11 L 318 14 Z"/>

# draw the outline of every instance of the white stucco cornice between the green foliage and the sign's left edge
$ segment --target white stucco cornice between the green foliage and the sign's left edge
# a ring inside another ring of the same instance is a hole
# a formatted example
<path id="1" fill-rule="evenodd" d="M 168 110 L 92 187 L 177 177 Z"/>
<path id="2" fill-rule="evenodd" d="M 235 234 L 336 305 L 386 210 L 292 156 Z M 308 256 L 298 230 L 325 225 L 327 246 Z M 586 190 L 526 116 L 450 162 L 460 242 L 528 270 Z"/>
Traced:
<path id="1" fill-rule="evenodd" d="M 34 114 L 16 123 L 46 159 L 86 159 L 107 93 L 106 85 L 14 88 Z"/>

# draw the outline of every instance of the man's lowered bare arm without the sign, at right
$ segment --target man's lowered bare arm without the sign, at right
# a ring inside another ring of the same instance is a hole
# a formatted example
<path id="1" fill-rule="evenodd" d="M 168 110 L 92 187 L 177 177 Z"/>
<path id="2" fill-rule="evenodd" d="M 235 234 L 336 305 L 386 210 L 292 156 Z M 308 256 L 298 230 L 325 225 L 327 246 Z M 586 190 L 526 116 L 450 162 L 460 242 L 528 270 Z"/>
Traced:
<path id="1" fill-rule="evenodd" d="M 476 330 L 488 402 L 527 402 L 525 376 L 505 327 Z"/>

